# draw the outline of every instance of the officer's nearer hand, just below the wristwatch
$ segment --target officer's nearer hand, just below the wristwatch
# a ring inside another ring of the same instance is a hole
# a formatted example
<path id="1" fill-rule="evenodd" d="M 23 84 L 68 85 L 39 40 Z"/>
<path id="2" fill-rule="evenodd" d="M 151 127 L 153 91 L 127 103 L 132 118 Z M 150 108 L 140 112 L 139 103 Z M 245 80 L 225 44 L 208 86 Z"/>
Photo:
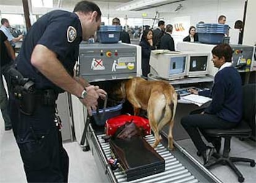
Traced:
<path id="1" fill-rule="evenodd" d="M 88 114 L 92 116 L 92 110 L 96 110 L 97 108 L 99 95 L 95 90 L 95 86 L 93 85 L 90 85 L 85 89 L 87 91 L 87 96 L 85 96 L 85 98 L 83 98 L 81 101 L 87 107 Z"/>

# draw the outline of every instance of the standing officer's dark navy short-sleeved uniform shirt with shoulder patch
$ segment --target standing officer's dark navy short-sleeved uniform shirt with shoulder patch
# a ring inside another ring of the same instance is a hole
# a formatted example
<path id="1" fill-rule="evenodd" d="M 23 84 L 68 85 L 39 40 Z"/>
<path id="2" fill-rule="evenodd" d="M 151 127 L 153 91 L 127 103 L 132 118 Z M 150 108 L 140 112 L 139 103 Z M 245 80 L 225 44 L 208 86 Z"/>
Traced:
<path id="1" fill-rule="evenodd" d="M 51 11 L 38 19 L 28 31 L 16 59 L 17 69 L 23 77 L 34 80 L 36 89 L 52 88 L 60 93 L 63 91 L 61 88 L 32 66 L 30 59 L 33 49 L 36 45 L 46 46 L 57 54 L 67 72 L 73 75 L 81 41 L 82 27 L 77 14 L 61 10 Z"/>

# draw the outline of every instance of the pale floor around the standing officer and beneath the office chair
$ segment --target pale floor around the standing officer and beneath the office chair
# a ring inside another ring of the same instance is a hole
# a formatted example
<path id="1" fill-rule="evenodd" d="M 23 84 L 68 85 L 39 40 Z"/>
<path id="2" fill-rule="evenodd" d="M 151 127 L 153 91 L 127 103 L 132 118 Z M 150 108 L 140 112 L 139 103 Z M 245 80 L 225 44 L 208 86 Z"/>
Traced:
<path id="1" fill-rule="evenodd" d="M 0 113 L 1 114 L 1 113 Z M 196 150 L 190 139 L 179 140 L 182 147 L 186 148 L 191 155 L 195 155 Z M 234 138 L 231 143 L 231 155 L 253 158 L 256 160 L 256 142 L 243 141 Z M 84 152 L 77 142 L 64 143 L 64 147 L 69 153 L 69 182 L 105 182 L 96 168 L 92 151 Z M 202 158 L 195 156 L 202 163 Z M 237 168 L 241 170 L 245 177 L 245 182 L 255 182 L 256 168 L 251 168 L 248 164 L 237 163 Z M 210 169 L 223 182 L 237 182 L 237 177 L 228 166 L 215 166 Z M 11 131 L 4 131 L 4 122 L 0 115 L 0 182 L 26 182 L 19 149 L 15 143 L 14 135 Z"/>

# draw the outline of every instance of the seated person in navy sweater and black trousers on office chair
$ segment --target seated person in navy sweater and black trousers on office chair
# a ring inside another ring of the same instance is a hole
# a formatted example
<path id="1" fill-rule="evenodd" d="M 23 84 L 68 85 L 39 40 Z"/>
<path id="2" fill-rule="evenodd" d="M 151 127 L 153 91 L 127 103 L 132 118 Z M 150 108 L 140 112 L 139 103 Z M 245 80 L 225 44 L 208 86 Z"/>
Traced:
<path id="1" fill-rule="evenodd" d="M 214 149 L 218 152 L 221 147 L 221 139 L 208 137 L 203 133 L 203 129 L 231 129 L 242 119 L 242 81 L 231 64 L 233 50 L 228 44 L 220 44 L 215 46 L 211 53 L 214 66 L 219 69 L 213 88 L 199 92 L 190 89 L 196 95 L 212 98 L 211 104 L 181 119 L 181 124 L 194 142 L 198 153 L 203 156 L 203 164 L 208 163 Z M 198 129 L 215 148 L 205 145 Z"/>

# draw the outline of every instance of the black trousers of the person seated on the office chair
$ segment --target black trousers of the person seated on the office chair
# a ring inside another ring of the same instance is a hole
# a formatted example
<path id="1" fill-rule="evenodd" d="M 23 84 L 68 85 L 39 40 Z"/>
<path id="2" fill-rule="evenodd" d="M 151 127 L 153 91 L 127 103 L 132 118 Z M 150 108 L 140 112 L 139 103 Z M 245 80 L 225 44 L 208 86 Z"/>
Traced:
<path id="1" fill-rule="evenodd" d="M 214 114 L 200 114 L 202 111 L 203 109 L 197 109 L 181 119 L 182 126 L 200 153 L 205 151 L 207 146 L 203 142 L 199 130 L 208 142 L 213 142 L 216 138 L 209 137 L 205 134 L 204 129 L 231 129 L 237 125 L 235 122 L 225 121 Z"/>

